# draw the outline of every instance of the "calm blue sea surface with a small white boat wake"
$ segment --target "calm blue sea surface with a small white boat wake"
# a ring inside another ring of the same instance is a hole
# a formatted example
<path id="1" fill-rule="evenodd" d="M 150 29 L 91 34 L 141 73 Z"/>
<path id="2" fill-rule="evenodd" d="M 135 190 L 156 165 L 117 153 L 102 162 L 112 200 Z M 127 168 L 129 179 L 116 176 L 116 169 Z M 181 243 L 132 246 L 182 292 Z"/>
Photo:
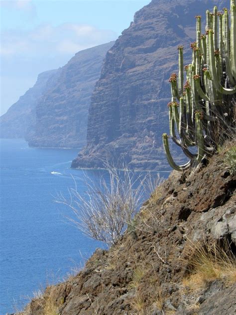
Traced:
<path id="1" fill-rule="evenodd" d="M 63 281 L 105 246 L 70 224 L 70 209 L 55 202 L 57 192 L 68 196 L 74 180 L 80 193 L 86 191 L 84 172 L 96 181 L 106 172 L 71 169 L 77 154 L 0 139 L 0 315 L 22 309 L 34 293 Z"/>

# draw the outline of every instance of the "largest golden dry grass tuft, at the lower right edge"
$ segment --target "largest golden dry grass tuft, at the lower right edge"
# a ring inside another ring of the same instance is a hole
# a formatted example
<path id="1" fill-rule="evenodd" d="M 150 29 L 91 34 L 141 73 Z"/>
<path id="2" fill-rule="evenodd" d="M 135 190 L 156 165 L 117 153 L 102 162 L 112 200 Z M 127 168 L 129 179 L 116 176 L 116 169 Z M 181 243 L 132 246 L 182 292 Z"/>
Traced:
<path id="1" fill-rule="evenodd" d="M 201 291 L 214 280 L 226 286 L 236 282 L 236 259 L 229 245 L 204 242 L 191 243 L 190 248 L 194 252 L 189 262 L 190 275 L 183 280 L 188 291 Z"/>

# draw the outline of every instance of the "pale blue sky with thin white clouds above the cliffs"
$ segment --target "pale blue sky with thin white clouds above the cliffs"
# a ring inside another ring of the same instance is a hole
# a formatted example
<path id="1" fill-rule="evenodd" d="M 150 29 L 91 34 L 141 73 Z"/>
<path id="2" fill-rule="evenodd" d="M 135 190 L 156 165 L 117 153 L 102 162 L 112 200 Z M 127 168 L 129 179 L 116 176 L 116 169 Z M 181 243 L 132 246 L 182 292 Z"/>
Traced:
<path id="1" fill-rule="evenodd" d="M 151 0 L 0 0 L 0 115 L 37 75 L 116 40 Z"/>

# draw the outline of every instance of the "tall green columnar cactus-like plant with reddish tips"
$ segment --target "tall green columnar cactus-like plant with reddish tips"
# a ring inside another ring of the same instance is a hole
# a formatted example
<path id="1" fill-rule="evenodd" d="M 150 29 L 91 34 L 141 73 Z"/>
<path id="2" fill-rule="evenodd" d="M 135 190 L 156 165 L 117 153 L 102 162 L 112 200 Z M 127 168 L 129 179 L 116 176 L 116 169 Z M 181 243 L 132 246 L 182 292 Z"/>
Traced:
<path id="1" fill-rule="evenodd" d="M 183 66 L 179 46 L 179 73 L 172 73 L 169 107 L 170 136 L 163 145 L 171 167 L 182 171 L 213 155 L 235 127 L 236 104 L 236 0 L 229 10 L 206 11 L 206 33 L 201 35 L 201 16 L 196 15 L 196 41 L 191 44 L 192 63 Z M 184 75 L 184 70 L 186 75 Z M 184 84 L 184 77 L 186 83 Z M 179 102 L 179 103 L 178 103 Z M 178 133 L 178 135 L 176 135 Z M 169 150 L 169 138 L 181 147 L 189 161 L 177 165 Z M 196 147 L 195 153 L 189 147 Z"/>

